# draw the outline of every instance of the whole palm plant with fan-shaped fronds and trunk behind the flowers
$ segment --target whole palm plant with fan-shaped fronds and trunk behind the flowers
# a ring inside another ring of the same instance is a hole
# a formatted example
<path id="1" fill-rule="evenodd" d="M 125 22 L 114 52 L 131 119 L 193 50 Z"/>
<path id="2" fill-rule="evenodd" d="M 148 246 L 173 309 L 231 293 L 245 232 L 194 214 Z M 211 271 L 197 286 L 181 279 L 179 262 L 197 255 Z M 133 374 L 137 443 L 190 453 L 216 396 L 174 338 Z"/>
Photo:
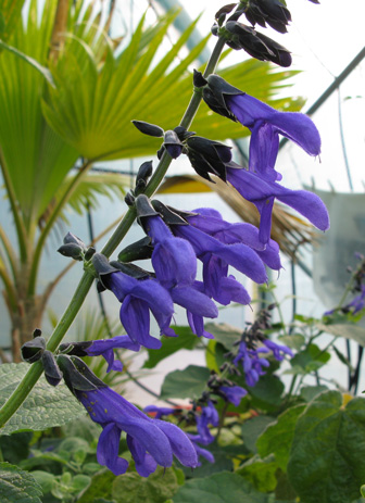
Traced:
<path id="1" fill-rule="evenodd" d="M 196 23 L 155 63 L 175 13 L 146 27 L 142 16 L 128 42 L 110 38 L 111 15 L 102 16 L 84 0 L 68 7 L 48 0 L 38 12 L 32 0 L 26 22 L 20 17 L 24 0 L 0 1 L 0 165 L 16 243 L 0 225 L 0 278 L 12 325 L 12 356 L 41 326 L 49 297 L 63 273 L 39 291 L 39 263 L 50 232 L 68 205 L 81 209 L 97 193 L 123 194 L 126 178 L 98 174 L 96 161 L 147 155 L 159 148 L 141 136 L 130 121 L 175 127 L 191 92 L 189 67 L 207 42 L 201 40 L 185 58 L 177 56 Z M 101 20 L 104 20 L 103 22 Z M 15 52 L 15 54 L 14 54 Z M 273 101 L 278 88 L 293 75 L 250 60 L 221 75 L 259 99 Z M 276 106 L 298 110 L 288 98 Z M 201 109 L 196 123 L 200 135 L 239 138 L 241 126 L 227 126 Z M 77 160 L 83 159 L 81 163 Z M 75 168 L 75 166 L 78 166 Z"/>

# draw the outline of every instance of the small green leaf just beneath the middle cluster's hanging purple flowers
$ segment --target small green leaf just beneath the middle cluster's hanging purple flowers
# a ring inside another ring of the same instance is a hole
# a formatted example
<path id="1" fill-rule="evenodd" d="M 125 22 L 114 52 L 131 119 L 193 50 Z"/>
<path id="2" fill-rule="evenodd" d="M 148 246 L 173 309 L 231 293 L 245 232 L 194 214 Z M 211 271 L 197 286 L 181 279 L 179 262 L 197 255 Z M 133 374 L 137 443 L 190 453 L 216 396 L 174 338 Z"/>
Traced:
<path id="1" fill-rule="evenodd" d="M 161 339 L 162 347 L 159 351 L 148 350 L 148 360 L 143 368 L 153 368 L 162 360 L 171 356 L 179 350 L 192 350 L 199 342 L 199 338 L 192 334 L 190 327 L 173 327 L 178 337 L 164 337 Z"/>

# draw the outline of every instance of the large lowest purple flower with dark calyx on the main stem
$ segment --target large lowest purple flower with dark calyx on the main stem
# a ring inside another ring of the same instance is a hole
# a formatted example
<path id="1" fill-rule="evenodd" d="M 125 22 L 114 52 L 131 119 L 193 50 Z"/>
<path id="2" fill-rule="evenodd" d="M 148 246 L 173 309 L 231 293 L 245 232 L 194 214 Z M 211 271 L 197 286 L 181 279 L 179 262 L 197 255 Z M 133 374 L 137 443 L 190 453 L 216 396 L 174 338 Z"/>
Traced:
<path id="1" fill-rule="evenodd" d="M 59 356 L 66 385 L 88 411 L 90 418 L 102 426 L 97 458 L 113 474 L 122 475 L 128 462 L 118 456 L 122 431 L 127 433 L 127 445 L 142 477 L 152 474 L 158 465 L 169 467 L 173 455 L 189 467 L 198 466 L 194 447 L 175 425 L 152 419 L 123 397 L 99 380 L 84 362 Z"/>

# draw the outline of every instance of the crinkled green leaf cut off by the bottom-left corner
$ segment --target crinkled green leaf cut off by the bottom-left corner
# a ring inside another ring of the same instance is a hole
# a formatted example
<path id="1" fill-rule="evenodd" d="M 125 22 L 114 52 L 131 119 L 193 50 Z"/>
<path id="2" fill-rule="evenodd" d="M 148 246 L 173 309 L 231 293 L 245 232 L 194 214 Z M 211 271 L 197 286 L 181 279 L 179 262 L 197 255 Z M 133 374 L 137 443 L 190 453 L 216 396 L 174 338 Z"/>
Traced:
<path id="1" fill-rule="evenodd" d="M 27 471 L 9 463 L 0 463 L 1 503 L 41 503 L 41 488 Z"/>

